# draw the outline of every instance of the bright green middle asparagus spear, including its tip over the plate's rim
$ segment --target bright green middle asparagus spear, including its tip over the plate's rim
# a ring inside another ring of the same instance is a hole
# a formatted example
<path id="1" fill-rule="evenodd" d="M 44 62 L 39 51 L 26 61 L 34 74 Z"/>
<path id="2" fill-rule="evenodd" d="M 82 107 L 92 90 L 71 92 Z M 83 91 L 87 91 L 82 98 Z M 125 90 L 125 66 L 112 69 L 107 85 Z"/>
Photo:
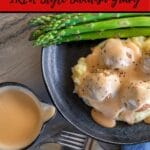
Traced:
<path id="1" fill-rule="evenodd" d="M 52 39 L 57 39 L 63 36 L 127 27 L 150 27 L 150 17 L 130 17 L 104 20 L 78 26 L 71 26 L 62 30 L 54 30 L 38 37 L 37 40 L 34 41 L 34 45 L 47 45 Z"/>

